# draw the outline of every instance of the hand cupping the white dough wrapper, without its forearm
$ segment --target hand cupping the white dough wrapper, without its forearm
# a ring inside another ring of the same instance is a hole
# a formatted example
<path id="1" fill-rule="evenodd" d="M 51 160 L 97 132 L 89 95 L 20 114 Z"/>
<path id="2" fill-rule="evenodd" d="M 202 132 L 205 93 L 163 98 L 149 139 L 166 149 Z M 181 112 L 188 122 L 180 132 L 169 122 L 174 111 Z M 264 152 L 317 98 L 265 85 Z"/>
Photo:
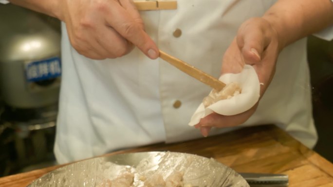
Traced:
<path id="1" fill-rule="evenodd" d="M 270 84 L 279 53 L 277 32 L 264 18 L 251 18 L 245 21 L 238 31 L 222 59 L 221 73 L 239 73 L 245 64 L 253 66 L 263 83 L 260 87 L 262 96 Z M 244 123 L 256 111 L 258 102 L 248 111 L 234 116 L 210 114 L 195 125 L 207 136 L 211 127 L 232 127 Z"/>

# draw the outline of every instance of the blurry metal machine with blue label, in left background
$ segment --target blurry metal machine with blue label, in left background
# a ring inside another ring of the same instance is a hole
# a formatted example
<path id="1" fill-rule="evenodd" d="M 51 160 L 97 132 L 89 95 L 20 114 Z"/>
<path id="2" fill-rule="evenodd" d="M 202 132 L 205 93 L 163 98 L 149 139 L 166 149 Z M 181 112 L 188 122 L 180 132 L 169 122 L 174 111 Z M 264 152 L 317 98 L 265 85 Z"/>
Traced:
<path id="1" fill-rule="evenodd" d="M 8 145 L 13 168 L 39 163 L 52 153 L 60 37 L 57 19 L 12 4 L 0 5 L 0 137 L 6 136 L 1 145 Z"/>

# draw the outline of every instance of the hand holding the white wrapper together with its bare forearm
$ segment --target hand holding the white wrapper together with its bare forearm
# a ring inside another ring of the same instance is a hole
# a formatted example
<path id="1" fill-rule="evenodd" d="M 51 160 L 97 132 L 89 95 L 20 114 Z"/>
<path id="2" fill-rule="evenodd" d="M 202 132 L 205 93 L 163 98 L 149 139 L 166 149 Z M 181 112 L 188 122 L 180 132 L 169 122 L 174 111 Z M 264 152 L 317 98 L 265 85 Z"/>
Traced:
<path id="1" fill-rule="evenodd" d="M 270 84 L 277 55 L 285 46 L 333 24 L 331 0 L 278 0 L 261 18 L 244 22 L 236 39 L 223 57 L 222 73 L 238 73 L 244 64 L 252 65 L 258 74 L 262 96 Z M 250 110 L 235 116 L 211 114 L 197 125 L 203 136 L 211 127 L 236 126 L 255 112 Z"/>

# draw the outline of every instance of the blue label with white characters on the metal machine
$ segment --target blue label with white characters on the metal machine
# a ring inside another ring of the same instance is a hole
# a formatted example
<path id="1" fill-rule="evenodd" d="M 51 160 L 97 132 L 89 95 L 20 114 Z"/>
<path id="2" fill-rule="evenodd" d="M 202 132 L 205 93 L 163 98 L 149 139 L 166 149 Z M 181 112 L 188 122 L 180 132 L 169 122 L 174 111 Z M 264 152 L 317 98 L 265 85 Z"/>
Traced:
<path id="1" fill-rule="evenodd" d="M 61 76 L 61 61 L 58 57 L 30 62 L 25 65 L 28 82 L 43 81 Z"/>

